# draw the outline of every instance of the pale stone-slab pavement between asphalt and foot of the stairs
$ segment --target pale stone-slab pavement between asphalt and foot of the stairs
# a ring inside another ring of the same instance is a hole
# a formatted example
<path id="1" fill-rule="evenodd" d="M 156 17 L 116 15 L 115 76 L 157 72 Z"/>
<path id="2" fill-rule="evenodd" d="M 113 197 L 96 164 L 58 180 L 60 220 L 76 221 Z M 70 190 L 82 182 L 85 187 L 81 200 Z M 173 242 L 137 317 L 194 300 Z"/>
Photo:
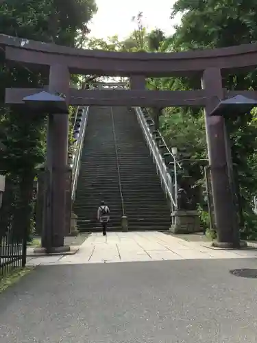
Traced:
<path id="1" fill-rule="evenodd" d="M 160 232 L 94 233 L 75 255 L 28 257 L 27 265 L 63 265 L 187 259 L 256 258 L 256 250 L 221 250 Z"/>

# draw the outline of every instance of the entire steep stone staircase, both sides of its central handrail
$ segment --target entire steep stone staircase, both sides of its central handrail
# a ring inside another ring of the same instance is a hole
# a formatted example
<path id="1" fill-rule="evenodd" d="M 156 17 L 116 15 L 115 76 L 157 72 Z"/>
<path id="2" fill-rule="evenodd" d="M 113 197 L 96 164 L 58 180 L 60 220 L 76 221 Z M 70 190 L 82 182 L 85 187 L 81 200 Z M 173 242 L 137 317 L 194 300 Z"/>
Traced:
<path id="1" fill-rule="evenodd" d="M 117 147 L 117 150 L 116 150 Z M 110 206 L 109 230 L 121 230 L 121 192 L 129 230 L 168 230 L 170 210 L 134 110 L 92 107 L 82 151 L 74 211 L 80 231 L 100 230 L 101 200 Z"/>

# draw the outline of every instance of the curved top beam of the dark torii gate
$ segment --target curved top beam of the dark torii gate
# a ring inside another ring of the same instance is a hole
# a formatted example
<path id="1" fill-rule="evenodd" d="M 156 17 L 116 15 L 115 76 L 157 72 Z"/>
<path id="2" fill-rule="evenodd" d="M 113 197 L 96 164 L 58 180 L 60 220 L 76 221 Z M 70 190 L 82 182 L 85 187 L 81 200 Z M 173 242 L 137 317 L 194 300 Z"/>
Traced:
<path id="1" fill-rule="evenodd" d="M 0 34 L 0 45 L 5 46 L 7 60 L 40 70 L 49 69 L 58 60 L 74 74 L 163 77 L 194 75 L 210 67 L 225 71 L 249 71 L 257 67 L 257 43 L 166 54 L 127 53 L 75 49 Z"/>

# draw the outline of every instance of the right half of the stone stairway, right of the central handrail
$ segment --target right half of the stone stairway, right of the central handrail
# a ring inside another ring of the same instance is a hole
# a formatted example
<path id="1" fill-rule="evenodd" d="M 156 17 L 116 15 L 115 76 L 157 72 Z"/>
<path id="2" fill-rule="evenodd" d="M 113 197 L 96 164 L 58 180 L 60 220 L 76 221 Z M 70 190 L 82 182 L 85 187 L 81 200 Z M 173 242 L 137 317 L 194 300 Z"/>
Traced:
<path id="1" fill-rule="evenodd" d="M 167 230 L 170 210 L 133 109 L 112 108 L 129 230 Z"/>

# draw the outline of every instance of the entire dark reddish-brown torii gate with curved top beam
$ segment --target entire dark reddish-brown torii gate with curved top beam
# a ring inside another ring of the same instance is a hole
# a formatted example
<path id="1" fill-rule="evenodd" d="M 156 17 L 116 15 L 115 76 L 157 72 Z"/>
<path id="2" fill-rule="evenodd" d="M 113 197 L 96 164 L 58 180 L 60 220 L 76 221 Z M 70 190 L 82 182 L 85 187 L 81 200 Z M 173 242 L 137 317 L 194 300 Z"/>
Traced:
<path id="1" fill-rule="evenodd" d="M 187 51 L 180 53 L 125 53 L 88 51 L 60 45 L 0 35 L 8 61 L 29 65 L 38 71 L 49 72 L 50 92 L 66 95 L 66 102 L 74 106 L 202 106 L 206 113 L 208 155 L 212 174 L 212 193 L 218 239 L 222 246 L 234 244 L 235 209 L 228 169 L 228 150 L 224 119 L 210 113 L 225 97 L 241 94 L 257 99 L 255 91 L 227 91 L 223 89 L 221 73 L 235 69 L 254 70 L 257 66 L 257 44 L 222 49 Z M 69 88 L 71 74 L 125 76 L 130 78 L 130 90 L 77 90 Z M 148 91 L 145 78 L 198 75 L 202 89 L 195 91 Z M 6 104 L 23 104 L 23 97 L 38 93 L 35 88 L 6 88 Z M 53 161 L 53 239 L 52 247 L 64 247 L 65 169 L 67 165 L 68 116 L 54 115 L 52 127 L 55 147 Z"/>

